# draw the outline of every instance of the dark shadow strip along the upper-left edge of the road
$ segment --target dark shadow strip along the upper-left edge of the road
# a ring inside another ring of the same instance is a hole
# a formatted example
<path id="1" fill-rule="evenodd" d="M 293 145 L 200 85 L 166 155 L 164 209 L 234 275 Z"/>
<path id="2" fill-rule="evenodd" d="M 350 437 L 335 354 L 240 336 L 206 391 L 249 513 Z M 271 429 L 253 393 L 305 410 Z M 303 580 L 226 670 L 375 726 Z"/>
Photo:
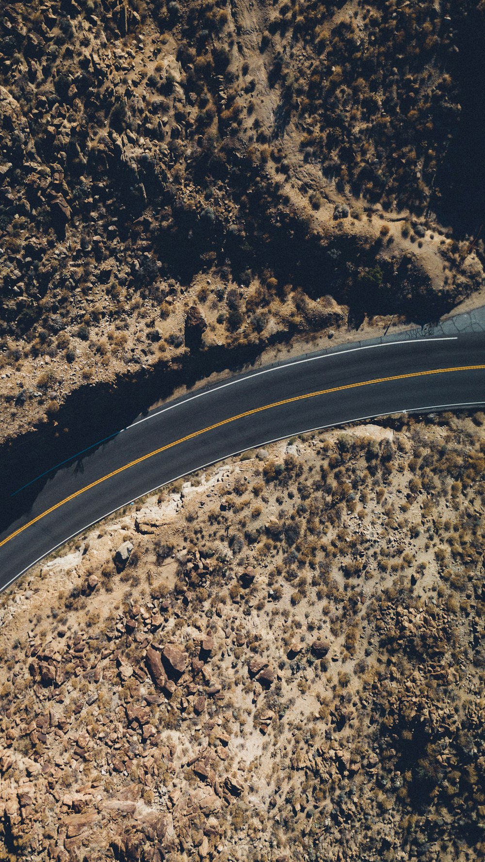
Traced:
<path id="1" fill-rule="evenodd" d="M 86 449 L 92 451 L 180 387 L 190 387 L 213 373 L 237 372 L 254 362 L 265 347 L 289 340 L 293 334 L 279 332 L 251 346 L 186 352 L 176 364 L 160 361 L 140 372 L 118 375 L 111 383 L 73 390 L 60 405 L 55 421 L 36 425 L 28 434 L 7 440 L 0 447 L 0 531 L 28 511 L 53 467 L 66 459 L 80 460 Z M 48 475 L 42 475 L 47 471 Z"/>

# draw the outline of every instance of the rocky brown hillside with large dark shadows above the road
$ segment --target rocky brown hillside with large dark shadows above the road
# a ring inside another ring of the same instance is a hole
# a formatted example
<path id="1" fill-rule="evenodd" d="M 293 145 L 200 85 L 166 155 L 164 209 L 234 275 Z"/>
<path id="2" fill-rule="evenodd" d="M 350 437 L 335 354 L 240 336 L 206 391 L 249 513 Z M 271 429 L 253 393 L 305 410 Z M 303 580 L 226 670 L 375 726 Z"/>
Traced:
<path id="1" fill-rule="evenodd" d="M 475 0 L 3 3 L 2 436 L 480 290 L 482 33 Z"/>

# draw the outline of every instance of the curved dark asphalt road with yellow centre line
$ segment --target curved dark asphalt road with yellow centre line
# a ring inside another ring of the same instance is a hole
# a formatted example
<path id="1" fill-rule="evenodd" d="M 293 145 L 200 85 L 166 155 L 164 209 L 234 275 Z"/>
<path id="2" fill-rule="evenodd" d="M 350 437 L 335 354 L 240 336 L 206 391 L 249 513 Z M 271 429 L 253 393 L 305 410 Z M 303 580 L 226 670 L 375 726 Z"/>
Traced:
<path id="1" fill-rule="evenodd" d="M 245 449 L 377 415 L 483 403 L 482 332 L 355 347 L 232 378 L 152 410 L 44 478 L 31 508 L 0 534 L 0 590 L 115 509 Z"/>

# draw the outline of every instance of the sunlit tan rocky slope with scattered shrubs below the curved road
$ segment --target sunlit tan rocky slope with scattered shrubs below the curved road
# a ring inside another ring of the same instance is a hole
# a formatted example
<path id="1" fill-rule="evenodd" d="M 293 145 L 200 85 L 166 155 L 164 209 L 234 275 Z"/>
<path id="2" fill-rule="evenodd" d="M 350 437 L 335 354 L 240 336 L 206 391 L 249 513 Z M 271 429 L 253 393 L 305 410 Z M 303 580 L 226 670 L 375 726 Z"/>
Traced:
<path id="1" fill-rule="evenodd" d="M 248 453 L 3 594 L 0 859 L 483 859 L 484 422 Z"/>

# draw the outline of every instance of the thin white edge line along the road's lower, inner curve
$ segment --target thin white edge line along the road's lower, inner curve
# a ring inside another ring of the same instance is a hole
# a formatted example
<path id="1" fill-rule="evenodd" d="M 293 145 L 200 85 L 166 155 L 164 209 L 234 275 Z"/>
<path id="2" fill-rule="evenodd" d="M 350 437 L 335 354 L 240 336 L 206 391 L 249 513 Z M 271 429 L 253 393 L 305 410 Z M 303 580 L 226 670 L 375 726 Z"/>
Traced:
<path id="1" fill-rule="evenodd" d="M 382 416 L 394 416 L 400 415 L 401 413 L 428 413 L 432 410 L 445 410 L 452 407 L 481 407 L 482 404 L 485 404 L 485 401 L 465 401 L 463 403 L 457 404 L 434 404 L 432 407 L 413 407 L 411 409 L 394 410 L 392 413 L 373 413 L 370 416 L 358 416 L 358 418 L 356 419 L 345 419 L 342 420 L 342 422 L 330 422 L 328 425 L 317 425 L 316 428 L 307 428 L 305 431 L 296 431 L 294 434 L 283 434 L 281 437 L 274 437 L 272 440 L 264 440 L 263 443 L 256 443 L 254 446 L 250 446 L 247 449 L 236 449 L 235 452 L 232 452 L 228 455 L 221 455 L 221 458 L 216 458 L 213 461 L 208 461 L 207 464 L 202 464 L 198 467 L 194 467 L 192 470 L 189 470 L 185 473 L 181 473 L 180 476 L 174 476 L 174 478 L 168 479 L 166 482 L 162 482 L 162 484 L 155 485 L 155 487 L 151 488 L 150 490 L 144 490 L 142 494 L 138 495 L 138 497 L 134 497 L 132 500 L 127 500 L 127 503 L 121 503 L 120 506 L 116 506 L 115 509 L 111 509 L 110 512 L 107 512 L 106 515 L 101 515 L 99 518 L 96 518 L 95 521 L 91 521 L 90 524 L 86 524 L 85 527 L 76 530 L 76 532 L 68 536 L 67 539 L 63 539 L 62 541 L 59 541 L 57 545 L 54 545 L 54 547 L 52 547 L 50 551 L 47 551 L 37 559 L 34 559 L 34 562 L 29 563 L 25 567 L 25 569 L 22 569 L 22 572 L 18 573 L 18 575 L 15 575 L 13 578 L 10 578 L 7 584 L 3 584 L 3 586 L 0 587 L 0 593 L 3 593 L 3 590 L 6 590 L 7 587 L 9 587 L 10 584 L 13 584 L 14 581 L 18 580 L 18 578 L 22 578 L 22 575 L 24 575 L 25 572 L 28 572 L 28 570 L 31 569 L 34 565 L 40 563 L 41 559 L 46 559 L 46 557 L 48 557 L 51 553 L 57 551 L 58 547 L 66 545 L 68 541 L 71 541 L 79 534 L 84 533 L 84 530 L 89 530 L 91 527 L 94 527 L 95 524 L 105 521 L 106 518 L 109 518 L 110 515 L 114 515 L 115 512 L 118 512 L 120 509 L 124 509 L 126 506 L 130 506 L 132 503 L 136 503 L 136 501 L 140 500 L 141 497 L 146 497 L 148 494 L 153 494 L 154 491 L 159 490 L 160 488 L 165 488 L 166 485 L 172 484 L 172 482 L 177 482 L 178 479 L 183 479 L 185 478 L 185 476 L 190 476 L 192 473 L 196 473 L 199 470 L 205 470 L 206 467 L 211 467 L 215 464 L 218 464 L 219 461 L 225 461 L 228 458 L 234 458 L 235 455 L 242 454 L 243 452 L 250 452 L 251 449 L 260 448 L 262 446 L 270 446 L 271 443 L 277 443 L 279 442 L 279 440 L 285 440 L 289 437 L 300 436 L 300 434 L 312 434 L 314 431 L 325 431 L 326 428 L 339 428 L 340 425 L 350 425 L 353 422 L 365 422 L 367 419 L 378 419 Z"/>

